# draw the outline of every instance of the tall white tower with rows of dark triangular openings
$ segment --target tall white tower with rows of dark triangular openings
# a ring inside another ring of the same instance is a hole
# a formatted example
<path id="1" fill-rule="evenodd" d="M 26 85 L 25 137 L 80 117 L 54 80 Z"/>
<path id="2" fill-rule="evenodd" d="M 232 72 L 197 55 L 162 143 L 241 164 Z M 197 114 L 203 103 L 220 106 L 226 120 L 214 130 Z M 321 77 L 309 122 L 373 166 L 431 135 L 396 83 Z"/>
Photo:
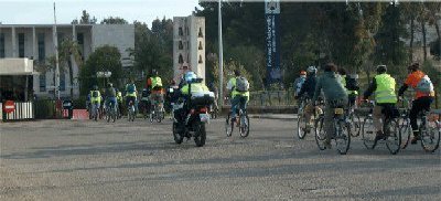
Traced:
<path id="1" fill-rule="evenodd" d="M 173 18 L 174 77 L 181 75 L 185 65 L 205 80 L 205 18 Z"/>

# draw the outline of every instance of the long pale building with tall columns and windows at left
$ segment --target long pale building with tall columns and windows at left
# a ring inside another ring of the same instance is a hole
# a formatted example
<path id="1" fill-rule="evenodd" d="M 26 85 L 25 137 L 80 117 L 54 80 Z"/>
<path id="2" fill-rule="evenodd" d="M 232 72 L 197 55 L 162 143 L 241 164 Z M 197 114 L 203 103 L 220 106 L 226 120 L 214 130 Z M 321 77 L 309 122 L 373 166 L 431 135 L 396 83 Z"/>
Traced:
<path id="1" fill-rule="evenodd" d="M 83 61 L 97 47 L 112 45 L 120 51 L 122 65 L 131 65 L 127 50 L 135 49 L 133 24 L 58 24 L 56 31 L 58 44 L 66 38 L 78 43 Z M 0 60 L 33 60 L 33 93 L 37 97 L 54 96 L 54 71 L 37 72 L 36 66 L 47 63 L 46 59 L 55 54 L 55 39 L 53 24 L 0 24 Z M 60 64 L 61 97 L 71 96 L 71 88 L 74 97 L 78 97 L 78 65 L 72 61 L 73 81 L 69 80 L 69 71 L 65 66 Z"/>

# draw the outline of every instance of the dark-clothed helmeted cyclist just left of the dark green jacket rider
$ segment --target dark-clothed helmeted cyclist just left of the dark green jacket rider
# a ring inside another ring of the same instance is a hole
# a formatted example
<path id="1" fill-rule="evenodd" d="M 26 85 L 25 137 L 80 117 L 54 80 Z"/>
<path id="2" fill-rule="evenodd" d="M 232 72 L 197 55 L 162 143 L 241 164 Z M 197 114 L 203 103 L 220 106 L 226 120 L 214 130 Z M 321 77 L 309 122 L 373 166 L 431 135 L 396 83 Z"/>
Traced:
<path id="1" fill-rule="evenodd" d="M 299 99 L 305 94 L 306 99 L 311 99 L 314 97 L 314 92 L 315 92 L 315 85 L 316 85 L 316 67 L 315 66 L 309 66 L 306 70 L 306 80 L 304 81 L 304 84 L 302 85 L 302 88 L 300 89 L 299 94 L 295 96 L 295 99 Z M 306 118 L 306 126 L 311 126 L 311 116 L 313 113 L 313 106 L 312 103 L 308 104 L 304 108 L 304 116 Z"/>

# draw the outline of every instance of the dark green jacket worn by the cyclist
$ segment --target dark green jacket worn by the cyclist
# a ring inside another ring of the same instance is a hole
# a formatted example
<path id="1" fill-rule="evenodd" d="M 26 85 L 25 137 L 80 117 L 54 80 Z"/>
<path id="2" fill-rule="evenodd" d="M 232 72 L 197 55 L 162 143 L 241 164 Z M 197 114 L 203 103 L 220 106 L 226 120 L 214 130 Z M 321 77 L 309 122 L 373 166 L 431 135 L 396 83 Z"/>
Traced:
<path id="1" fill-rule="evenodd" d="M 342 77 L 334 72 L 324 72 L 323 75 L 319 77 L 315 85 L 314 97 L 312 98 L 313 103 L 318 99 L 321 91 L 323 91 L 326 102 L 337 99 L 347 100 L 347 92 L 342 84 Z"/>

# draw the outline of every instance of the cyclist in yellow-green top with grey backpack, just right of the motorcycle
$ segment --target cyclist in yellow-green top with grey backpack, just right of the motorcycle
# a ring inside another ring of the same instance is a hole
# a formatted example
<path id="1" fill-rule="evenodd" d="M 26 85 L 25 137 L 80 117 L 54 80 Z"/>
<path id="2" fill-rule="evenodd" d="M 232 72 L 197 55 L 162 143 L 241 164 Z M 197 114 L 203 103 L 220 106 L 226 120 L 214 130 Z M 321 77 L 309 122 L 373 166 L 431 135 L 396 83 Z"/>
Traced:
<path id="1" fill-rule="evenodd" d="M 232 77 L 227 83 L 227 89 L 232 97 L 232 123 L 238 123 L 238 119 L 236 119 L 237 107 L 246 112 L 249 100 L 249 83 L 240 75 L 240 71 L 235 70 L 234 75 L 235 77 Z"/>

